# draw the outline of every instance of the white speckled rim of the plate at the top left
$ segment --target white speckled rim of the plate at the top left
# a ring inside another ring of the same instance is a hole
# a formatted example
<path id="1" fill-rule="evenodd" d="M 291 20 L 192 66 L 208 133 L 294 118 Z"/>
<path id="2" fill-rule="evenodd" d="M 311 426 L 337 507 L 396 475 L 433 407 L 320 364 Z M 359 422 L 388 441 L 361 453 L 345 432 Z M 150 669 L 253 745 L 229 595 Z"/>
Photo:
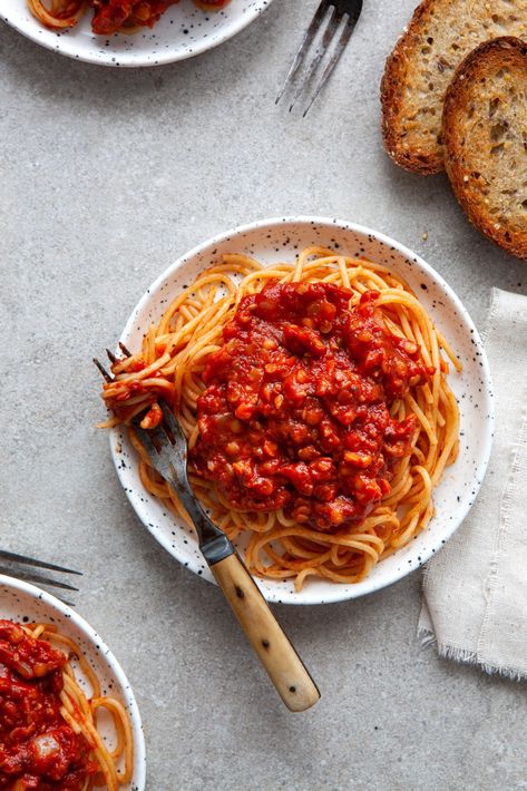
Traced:
<path id="1" fill-rule="evenodd" d="M 56 52 L 58 55 L 62 55 L 66 58 L 70 58 L 71 60 L 78 60 L 84 64 L 92 64 L 94 66 L 109 66 L 113 68 L 119 68 L 119 69 L 146 69 L 150 67 L 156 67 L 156 66 L 167 66 L 168 64 L 176 64 L 180 62 L 183 60 L 188 60 L 189 58 L 194 58 L 198 55 L 203 55 L 204 52 L 207 52 L 211 49 L 215 49 L 216 47 L 219 47 L 222 43 L 225 43 L 225 41 L 228 41 L 228 39 L 233 38 L 234 36 L 237 36 L 237 33 L 242 32 L 246 27 L 248 27 L 252 22 L 254 22 L 273 2 L 273 0 L 255 0 L 254 7 L 246 13 L 241 13 L 238 19 L 235 20 L 233 23 L 227 26 L 226 30 L 218 33 L 217 38 L 214 39 L 202 39 L 201 43 L 197 43 L 196 46 L 193 46 L 192 51 L 168 51 L 168 52 L 159 52 L 155 55 L 155 59 L 153 60 L 146 60 L 147 52 L 145 52 L 144 57 L 141 58 L 140 56 L 136 58 L 135 60 L 128 60 L 125 59 L 125 61 L 118 60 L 117 58 L 115 60 L 111 60 L 113 58 L 113 50 L 108 47 L 108 53 L 103 57 L 96 57 L 94 55 L 82 55 L 78 51 L 75 50 L 75 46 L 69 48 L 69 47 L 64 47 L 61 46 L 61 41 L 69 41 L 70 39 L 60 39 L 57 37 L 58 43 L 52 43 L 51 41 L 42 40 L 39 35 L 38 35 L 38 21 L 31 19 L 31 26 L 25 26 L 18 23 L 14 19 L 14 14 L 9 14 L 9 10 L 3 9 L 0 12 L 0 19 L 2 19 L 6 25 L 8 25 L 10 28 L 16 30 L 17 32 L 21 33 L 25 38 L 29 39 L 30 41 L 33 41 L 33 43 L 39 45 L 40 47 L 43 47 L 45 49 L 48 49 L 50 52 Z M 160 20 L 159 20 L 160 21 Z M 35 22 L 35 30 L 32 27 L 32 22 Z M 46 30 L 48 30 L 46 28 Z M 49 32 L 53 32 L 52 30 L 49 30 Z M 59 31 L 60 32 L 60 31 Z M 101 39 L 106 40 L 105 37 L 100 37 Z"/>

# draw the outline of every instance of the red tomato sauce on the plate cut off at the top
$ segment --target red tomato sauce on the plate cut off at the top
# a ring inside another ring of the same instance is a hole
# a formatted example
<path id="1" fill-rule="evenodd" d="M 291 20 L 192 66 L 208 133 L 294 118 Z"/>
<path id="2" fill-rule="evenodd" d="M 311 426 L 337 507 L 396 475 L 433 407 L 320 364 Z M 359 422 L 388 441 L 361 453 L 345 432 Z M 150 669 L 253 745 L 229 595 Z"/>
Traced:
<path id="1" fill-rule="evenodd" d="M 99 36 L 111 36 L 124 25 L 153 28 L 166 9 L 177 2 L 179 0 L 90 0 L 95 9 L 91 29 Z M 209 0 L 198 4 L 215 10 L 230 0 Z"/>

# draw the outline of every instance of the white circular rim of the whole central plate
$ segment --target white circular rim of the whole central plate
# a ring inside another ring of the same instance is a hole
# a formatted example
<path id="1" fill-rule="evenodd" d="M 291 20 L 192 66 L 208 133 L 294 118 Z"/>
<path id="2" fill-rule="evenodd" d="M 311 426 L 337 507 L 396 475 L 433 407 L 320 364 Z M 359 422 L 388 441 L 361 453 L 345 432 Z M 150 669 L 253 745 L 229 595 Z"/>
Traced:
<path id="1" fill-rule="evenodd" d="M 466 519 L 467 515 L 471 510 L 477 496 L 479 494 L 480 487 L 484 482 L 485 475 L 487 472 L 489 459 L 490 459 L 490 453 L 492 450 L 492 438 L 494 438 L 494 429 L 495 429 L 495 397 L 494 397 L 494 388 L 492 388 L 492 379 L 491 379 L 491 373 L 490 373 L 490 368 L 488 363 L 488 358 L 487 353 L 480 336 L 480 333 L 475 325 L 468 310 L 465 307 L 463 303 L 461 300 L 458 297 L 456 292 L 451 289 L 451 286 L 447 283 L 447 281 L 442 277 L 442 275 L 437 272 L 430 264 L 428 264 L 420 255 L 411 251 L 409 247 L 403 245 L 400 242 L 397 242 L 396 240 L 391 238 L 390 236 L 387 236 L 386 234 L 374 231 L 372 228 L 369 228 L 364 225 L 360 225 L 359 223 L 351 223 L 344 219 L 339 219 L 334 217 L 323 217 L 319 215 L 289 215 L 289 216 L 282 216 L 282 217 L 271 217 L 271 218 L 265 218 L 265 219 L 258 219 L 254 221 L 251 223 L 245 223 L 243 225 L 235 226 L 234 228 L 230 228 L 228 231 L 215 234 L 214 236 L 209 237 L 203 243 L 199 243 L 195 245 L 192 250 L 189 250 L 187 253 L 184 255 L 179 256 L 175 262 L 173 262 L 168 267 L 165 268 L 164 272 L 162 272 L 158 277 L 155 279 L 155 281 L 146 289 L 145 293 L 141 295 L 135 307 L 133 309 L 125 328 L 120 334 L 119 341 L 124 342 L 126 344 L 127 342 L 127 335 L 130 333 L 133 328 L 135 326 L 137 314 L 150 302 L 152 295 L 155 291 L 157 291 L 163 283 L 165 283 L 172 275 L 174 275 L 177 270 L 179 270 L 182 266 L 184 266 L 188 261 L 192 258 L 196 257 L 199 255 L 203 251 L 205 251 L 207 247 L 212 247 L 215 245 L 218 245 L 223 242 L 225 242 L 227 238 L 233 240 L 235 243 L 235 238 L 237 236 L 242 236 L 243 234 L 247 233 L 253 233 L 255 231 L 261 231 L 262 228 L 269 228 L 270 231 L 273 230 L 273 227 L 280 226 L 280 225 L 287 225 L 287 224 L 296 224 L 296 225 L 306 225 L 312 228 L 315 228 L 316 226 L 324 226 L 324 227 L 335 227 L 341 231 L 349 231 L 352 233 L 358 233 L 361 235 L 365 236 L 372 236 L 374 240 L 378 240 L 381 242 L 383 245 L 392 247 L 394 251 L 400 253 L 402 256 L 414 262 L 417 266 L 421 270 L 424 271 L 432 280 L 435 280 L 438 285 L 442 289 L 442 291 L 446 293 L 446 295 L 449 297 L 453 306 L 458 310 L 459 315 L 463 319 L 463 322 L 468 325 L 471 338 L 474 339 L 476 343 L 476 348 L 478 352 L 480 353 L 480 362 L 481 362 L 481 369 L 482 369 L 482 381 L 485 382 L 485 397 L 487 399 L 487 406 L 488 406 L 488 418 L 485 423 L 485 433 L 484 433 L 484 441 L 481 446 L 481 453 L 480 458 L 478 460 L 478 465 L 475 468 L 474 471 L 474 497 L 470 502 L 466 502 L 463 508 L 461 508 L 456 516 L 456 519 L 452 519 L 452 525 L 448 525 L 445 527 L 443 531 L 441 533 L 440 537 L 438 537 L 436 540 L 431 540 L 429 546 L 427 547 L 427 550 L 421 553 L 420 556 L 420 561 L 419 564 L 412 564 L 409 568 L 401 567 L 400 569 L 396 569 L 392 572 L 390 578 L 388 580 L 382 580 L 382 579 L 375 579 L 370 577 L 367 577 L 367 579 L 362 580 L 361 583 L 361 589 L 358 590 L 357 594 L 353 594 L 353 586 L 352 585 L 334 585 L 334 593 L 331 597 L 328 595 L 324 597 L 324 599 L 314 599 L 314 600 L 306 600 L 301 597 L 299 598 L 293 598 L 290 599 L 287 597 L 283 597 L 283 592 L 276 592 L 276 594 L 269 595 L 266 592 L 262 592 L 264 597 L 266 598 L 267 602 L 271 603 L 279 603 L 279 604 L 289 604 L 289 605 L 318 605 L 318 604 L 333 604 L 336 602 L 344 602 L 344 600 L 350 600 L 350 599 L 357 599 L 361 598 L 362 596 L 367 596 L 369 594 L 375 593 L 377 590 L 381 590 L 384 587 L 389 587 L 393 585 L 394 583 L 401 580 L 412 572 L 417 570 L 417 568 L 420 568 L 423 566 L 435 554 L 439 551 L 439 549 L 448 541 L 450 538 L 453 536 L 453 534 L 458 530 L 458 528 L 462 525 L 463 520 Z M 128 489 L 128 486 L 125 485 L 125 481 L 121 478 L 121 468 L 120 468 L 120 453 L 117 450 L 117 447 L 119 445 L 119 427 L 115 427 L 109 430 L 109 445 L 110 445 L 110 453 L 111 458 L 114 461 L 114 466 L 119 479 L 119 484 L 125 490 L 125 494 L 136 514 L 138 517 L 139 521 L 143 524 L 143 526 L 150 533 L 150 535 L 156 539 L 156 541 L 166 550 L 168 554 L 176 559 L 179 564 L 182 564 L 184 567 L 188 568 L 193 574 L 197 575 L 197 570 L 195 570 L 192 566 L 191 563 L 186 563 L 187 558 L 185 560 L 182 560 L 174 550 L 170 550 L 169 548 L 169 541 L 164 541 L 163 536 L 159 535 L 159 531 L 155 528 L 149 527 L 149 521 L 147 518 L 143 518 L 140 515 L 140 508 L 139 504 L 137 502 L 136 498 L 134 498 L 134 491 Z M 201 575 L 199 575 L 201 576 Z M 215 584 L 214 578 L 212 577 L 208 579 L 205 577 L 207 582 L 212 582 Z M 256 584 L 258 584 L 258 578 L 254 577 Z M 340 592 L 340 595 L 339 595 Z"/>

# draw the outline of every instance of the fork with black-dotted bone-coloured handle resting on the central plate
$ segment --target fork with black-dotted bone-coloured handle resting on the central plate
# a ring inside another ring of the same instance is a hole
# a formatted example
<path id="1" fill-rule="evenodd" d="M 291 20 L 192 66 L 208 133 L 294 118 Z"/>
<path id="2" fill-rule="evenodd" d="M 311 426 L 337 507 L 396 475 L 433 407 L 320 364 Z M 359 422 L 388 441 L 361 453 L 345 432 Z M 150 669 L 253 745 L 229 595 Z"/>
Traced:
<path id="1" fill-rule="evenodd" d="M 128 357 L 123 344 L 120 351 Z M 106 350 L 110 362 L 115 355 Z M 111 374 L 94 359 L 107 382 Z M 291 641 L 277 623 L 260 588 L 226 534 L 208 517 L 196 499 L 187 476 L 188 448 L 182 426 L 169 406 L 158 399 L 163 421 L 154 429 L 133 419 L 134 431 L 155 469 L 174 489 L 196 528 L 199 549 L 216 583 L 236 615 L 277 693 L 291 711 L 314 705 L 320 692 Z"/>

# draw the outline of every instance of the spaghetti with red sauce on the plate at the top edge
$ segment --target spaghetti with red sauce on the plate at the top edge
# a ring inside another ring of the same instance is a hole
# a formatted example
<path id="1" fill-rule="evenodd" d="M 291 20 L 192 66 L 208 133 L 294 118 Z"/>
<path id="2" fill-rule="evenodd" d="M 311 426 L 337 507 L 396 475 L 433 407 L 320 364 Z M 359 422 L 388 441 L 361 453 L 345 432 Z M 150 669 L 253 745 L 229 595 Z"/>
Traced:
<path id="1" fill-rule="evenodd" d="M 169 6 L 179 0 L 27 0 L 33 17 L 47 28 L 65 30 L 79 21 L 88 10 L 94 9 L 91 29 L 99 36 L 116 32 L 130 33 L 148 27 L 153 28 Z M 218 11 L 230 0 L 194 0 L 203 11 Z"/>

